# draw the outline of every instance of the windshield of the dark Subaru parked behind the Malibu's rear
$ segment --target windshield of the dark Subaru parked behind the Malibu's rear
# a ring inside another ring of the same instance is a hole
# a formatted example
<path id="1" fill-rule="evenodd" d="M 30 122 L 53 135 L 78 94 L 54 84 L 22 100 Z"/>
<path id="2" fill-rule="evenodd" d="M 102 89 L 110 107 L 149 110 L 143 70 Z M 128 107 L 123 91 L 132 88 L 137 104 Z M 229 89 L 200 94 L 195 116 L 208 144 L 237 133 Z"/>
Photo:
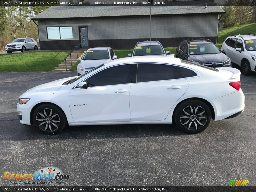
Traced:
<path id="1" fill-rule="evenodd" d="M 200 43 L 200 44 L 189 45 L 190 55 L 217 54 L 217 53 L 221 53 L 221 51 L 213 43 L 205 43 L 205 44 Z"/>

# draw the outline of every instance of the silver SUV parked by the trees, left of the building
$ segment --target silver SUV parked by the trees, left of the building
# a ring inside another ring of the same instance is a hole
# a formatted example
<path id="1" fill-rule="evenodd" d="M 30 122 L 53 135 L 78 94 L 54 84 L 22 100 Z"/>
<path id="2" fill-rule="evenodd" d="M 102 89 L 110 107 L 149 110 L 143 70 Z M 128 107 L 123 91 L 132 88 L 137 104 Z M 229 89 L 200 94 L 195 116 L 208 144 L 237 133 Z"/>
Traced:
<path id="1" fill-rule="evenodd" d="M 14 39 L 11 43 L 5 46 L 7 53 L 12 53 L 13 51 L 26 51 L 26 50 L 38 50 L 37 42 L 33 38 L 18 38 Z"/>

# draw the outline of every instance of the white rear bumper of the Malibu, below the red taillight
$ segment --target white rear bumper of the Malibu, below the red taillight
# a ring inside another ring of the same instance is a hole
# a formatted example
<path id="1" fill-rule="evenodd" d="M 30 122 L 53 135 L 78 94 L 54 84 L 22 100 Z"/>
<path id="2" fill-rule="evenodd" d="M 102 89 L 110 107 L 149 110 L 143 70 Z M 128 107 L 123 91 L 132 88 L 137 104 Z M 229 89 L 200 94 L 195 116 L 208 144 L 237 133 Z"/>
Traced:
<path id="1" fill-rule="evenodd" d="M 214 121 L 233 118 L 243 112 L 245 108 L 245 95 L 242 89 L 235 93 L 209 101 L 214 108 Z"/>

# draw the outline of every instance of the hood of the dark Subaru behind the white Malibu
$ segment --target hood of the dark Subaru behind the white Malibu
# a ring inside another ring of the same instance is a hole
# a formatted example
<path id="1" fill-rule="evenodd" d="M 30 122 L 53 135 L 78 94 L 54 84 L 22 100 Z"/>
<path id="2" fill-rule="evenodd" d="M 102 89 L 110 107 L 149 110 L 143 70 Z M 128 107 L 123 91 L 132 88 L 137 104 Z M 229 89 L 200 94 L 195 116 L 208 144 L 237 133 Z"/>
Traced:
<path id="1" fill-rule="evenodd" d="M 199 63 L 211 63 L 211 62 L 223 62 L 229 59 L 227 55 L 223 53 L 217 54 L 202 54 L 202 55 L 189 55 L 189 57 Z"/>

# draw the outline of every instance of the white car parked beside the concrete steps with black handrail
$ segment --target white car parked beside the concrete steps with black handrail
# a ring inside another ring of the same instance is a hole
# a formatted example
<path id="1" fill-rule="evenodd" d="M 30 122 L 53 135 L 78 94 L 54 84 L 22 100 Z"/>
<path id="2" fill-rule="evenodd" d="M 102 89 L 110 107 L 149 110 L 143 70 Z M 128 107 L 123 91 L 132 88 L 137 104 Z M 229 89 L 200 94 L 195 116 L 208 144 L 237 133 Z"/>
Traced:
<path id="1" fill-rule="evenodd" d="M 77 75 L 83 75 L 94 67 L 116 58 L 117 56 L 111 47 L 95 47 L 87 49 L 82 58 L 78 58 L 81 62 L 77 65 Z"/>

